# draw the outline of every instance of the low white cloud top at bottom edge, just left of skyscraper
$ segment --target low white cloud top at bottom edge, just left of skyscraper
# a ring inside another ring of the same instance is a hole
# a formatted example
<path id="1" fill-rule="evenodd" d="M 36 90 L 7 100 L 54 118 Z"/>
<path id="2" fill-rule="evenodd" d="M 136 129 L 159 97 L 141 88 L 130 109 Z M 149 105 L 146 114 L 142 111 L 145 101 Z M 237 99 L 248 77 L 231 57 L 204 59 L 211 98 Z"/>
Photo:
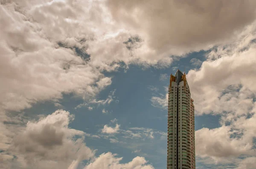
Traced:
<path id="1" fill-rule="evenodd" d="M 154 169 L 143 157 L 136 157 L 129 163 L 120 164 L 122 158 L 116 158 L 116 154 L 104 153 L 96 158 L 84 169 Z"/>

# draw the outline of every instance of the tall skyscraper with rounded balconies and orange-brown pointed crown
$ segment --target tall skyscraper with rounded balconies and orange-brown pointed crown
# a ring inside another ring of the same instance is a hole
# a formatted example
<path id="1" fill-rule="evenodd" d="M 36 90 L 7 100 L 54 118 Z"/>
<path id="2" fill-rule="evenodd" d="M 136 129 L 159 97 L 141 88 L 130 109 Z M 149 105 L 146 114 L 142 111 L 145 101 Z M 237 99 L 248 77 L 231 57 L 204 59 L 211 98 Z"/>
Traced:
<path id="1" fill-rule="evenodd" d="M 195 169 L 195 110 L 186 74 L 171 74 L 168 97 L 167 169 Z"/>

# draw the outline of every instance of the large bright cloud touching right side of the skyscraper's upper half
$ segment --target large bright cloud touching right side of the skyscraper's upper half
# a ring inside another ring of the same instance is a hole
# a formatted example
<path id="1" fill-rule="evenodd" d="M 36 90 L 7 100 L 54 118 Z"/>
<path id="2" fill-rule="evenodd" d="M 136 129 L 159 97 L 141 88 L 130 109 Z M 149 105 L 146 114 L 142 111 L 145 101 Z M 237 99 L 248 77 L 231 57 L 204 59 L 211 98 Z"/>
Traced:
<path id="1" fill-rule="evenodd" d="M 236 42 L 207 54 L 199 70 L 189 70 L 187 79 L 197 114 L 250 110 L 256 94 L 255 31 L 255 24 L 248 26 Z"/>

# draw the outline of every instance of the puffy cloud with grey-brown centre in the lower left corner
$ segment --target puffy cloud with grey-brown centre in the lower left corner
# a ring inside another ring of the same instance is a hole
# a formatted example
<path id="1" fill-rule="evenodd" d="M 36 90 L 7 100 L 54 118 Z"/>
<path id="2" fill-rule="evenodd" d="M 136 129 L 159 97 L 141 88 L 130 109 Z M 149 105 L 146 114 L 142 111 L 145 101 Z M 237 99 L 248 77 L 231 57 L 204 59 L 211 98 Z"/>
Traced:
<path id="1" fill-rule="evenodd" d="M 69 112 L 57 110 L 38 121 L 29 121 L 7 150 L 18 157 L 9 162 L 20 164 L 17 168 L 44 169 L 63 168 L 92 158 L 95 152 L 84 144 L 84 132 L 68 128 L 73 119 Z"/>

